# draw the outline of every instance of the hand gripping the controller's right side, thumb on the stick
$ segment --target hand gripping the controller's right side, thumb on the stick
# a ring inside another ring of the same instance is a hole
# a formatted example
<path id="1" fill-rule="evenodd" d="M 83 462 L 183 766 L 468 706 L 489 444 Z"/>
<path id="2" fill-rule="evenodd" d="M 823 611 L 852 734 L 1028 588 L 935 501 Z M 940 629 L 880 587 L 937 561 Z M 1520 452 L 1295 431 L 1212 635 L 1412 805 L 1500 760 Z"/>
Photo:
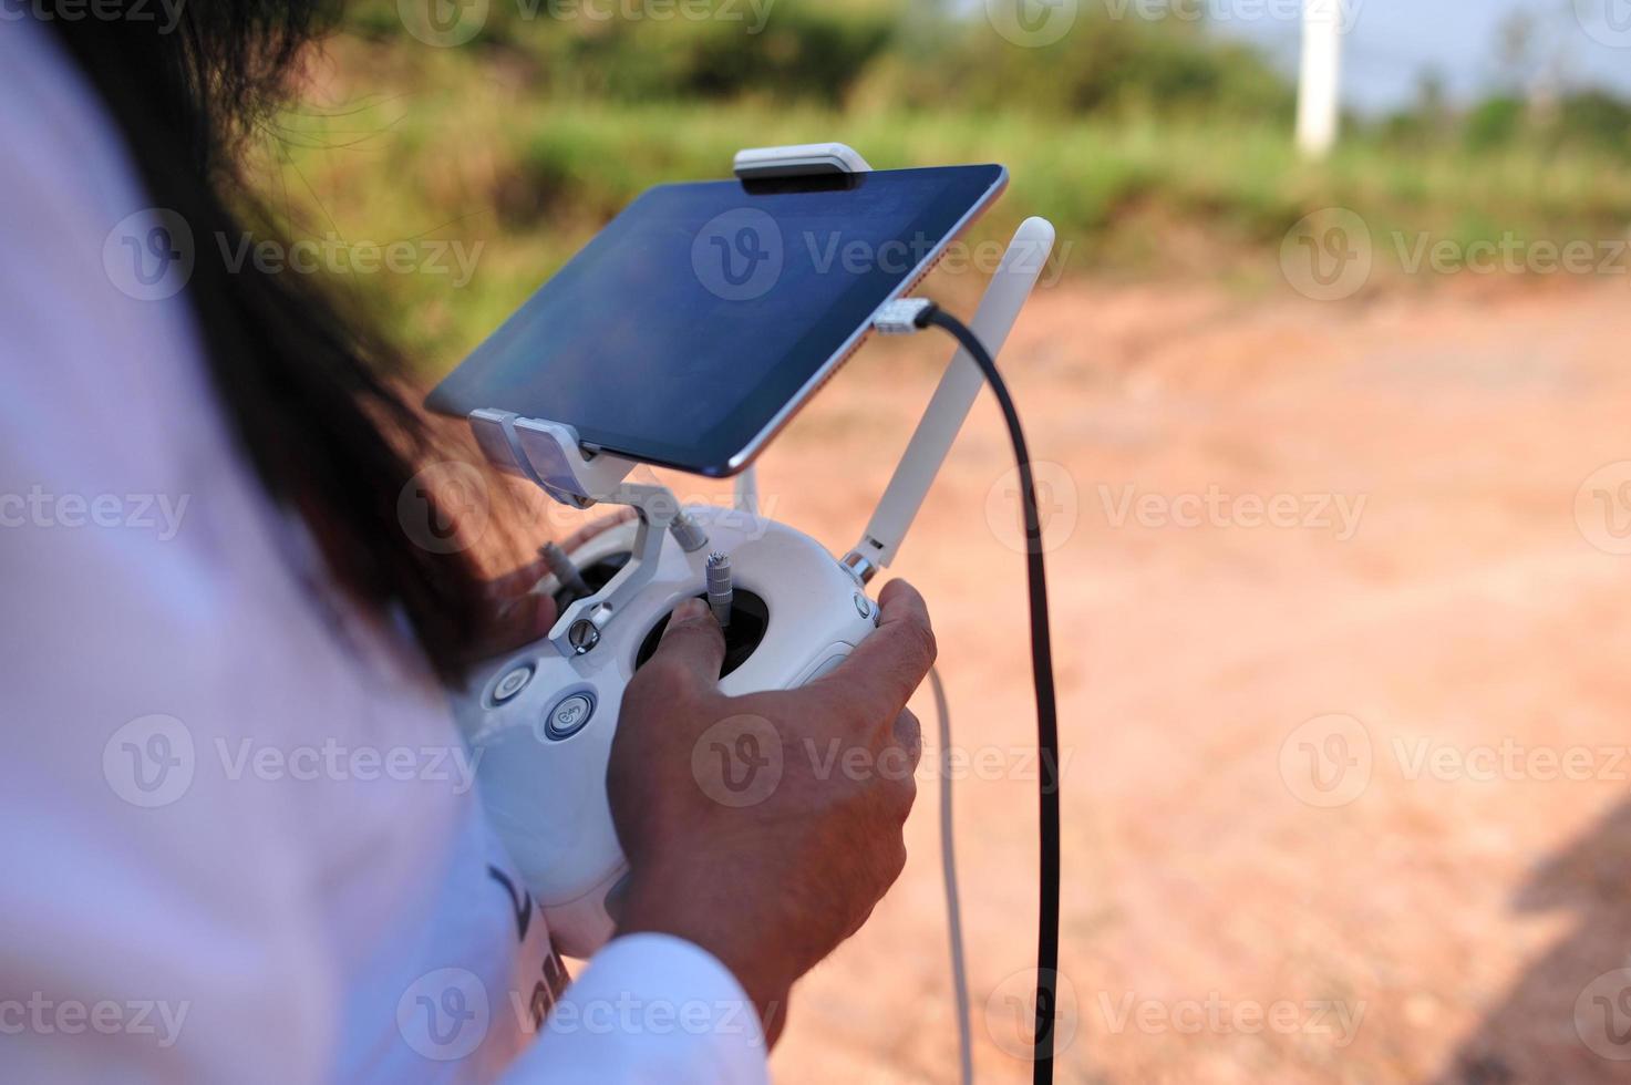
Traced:
<path id="1" fill-rule="evenodd" d="M 775 1043 L 793 982 L 853 935 L 905 865 L 917 718 L 935 662 L 923 597 L 879 596 L 879 625 L 796 690 L 719 692 L 724 640 L 687 600 L 623 697 L 607 786 L 631 875 L 618 933 L 713 953 Z"/>

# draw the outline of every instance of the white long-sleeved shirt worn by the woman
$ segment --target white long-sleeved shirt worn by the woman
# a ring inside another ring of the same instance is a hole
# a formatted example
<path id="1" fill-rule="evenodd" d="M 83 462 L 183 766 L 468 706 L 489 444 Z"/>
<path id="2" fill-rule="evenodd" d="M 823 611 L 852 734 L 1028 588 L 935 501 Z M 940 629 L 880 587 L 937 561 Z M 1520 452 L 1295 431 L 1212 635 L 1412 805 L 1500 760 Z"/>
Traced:
<path id="1" fill-rule="evenodd" d="M 445 695 L 323 602 L 137 263 L 175 224 L 101 103 L 31 20 L 0 72 L 0 1080 L 767 1080 L 687 941 L 566 984 Z"/>

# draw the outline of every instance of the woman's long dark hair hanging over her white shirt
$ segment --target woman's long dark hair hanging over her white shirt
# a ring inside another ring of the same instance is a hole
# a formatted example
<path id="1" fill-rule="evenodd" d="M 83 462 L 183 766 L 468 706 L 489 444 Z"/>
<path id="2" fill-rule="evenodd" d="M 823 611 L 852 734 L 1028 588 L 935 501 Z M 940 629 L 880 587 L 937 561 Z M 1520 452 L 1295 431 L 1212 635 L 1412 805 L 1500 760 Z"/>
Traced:
<path id="1" fill-rule="evenodd" d="M 99 91 L 157 207 L 194 237 L 264 235 L 269 215 L 238 155 L 279 108 L 302 49 L 331 21 L 325 0 L 186 0 L 168 20 L 52 20 Z M 168 33 L 166 33 L 168 29 Z M 253 261 L 228 271 L 199 246 L 186 297 L 215 390 L 267 493 L 310 527 L 356 602 L 401 609 L 444 677 L 481 633 L 465 553 L 416 545 L 398 498 L 431 447 L 391 382 L 398 356 L 357 312 L 312 282 Z"/>

